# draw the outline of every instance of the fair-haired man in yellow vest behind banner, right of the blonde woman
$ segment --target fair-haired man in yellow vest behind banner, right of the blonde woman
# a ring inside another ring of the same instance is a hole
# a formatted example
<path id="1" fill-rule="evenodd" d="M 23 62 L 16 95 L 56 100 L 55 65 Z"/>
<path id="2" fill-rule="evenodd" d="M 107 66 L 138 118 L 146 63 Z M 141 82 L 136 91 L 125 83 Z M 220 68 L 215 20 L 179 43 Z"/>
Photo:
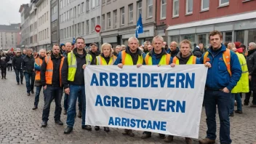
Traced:
<path id="1" fill-rule="evenodd" d="M 135 37 L 128 39 L 128 47 L 121 52 L 116 58 L 113 65 L 117 65 L 119 68 L 123 68 L 124 65 L 137 65 L 137 68 L 143 65 L 143 53 L 138 48 L 139 40 Z M 132 132 L 132 129 L 124 129 L 123 135 L 129 135 L 134 137 L 135 134 Z"/>

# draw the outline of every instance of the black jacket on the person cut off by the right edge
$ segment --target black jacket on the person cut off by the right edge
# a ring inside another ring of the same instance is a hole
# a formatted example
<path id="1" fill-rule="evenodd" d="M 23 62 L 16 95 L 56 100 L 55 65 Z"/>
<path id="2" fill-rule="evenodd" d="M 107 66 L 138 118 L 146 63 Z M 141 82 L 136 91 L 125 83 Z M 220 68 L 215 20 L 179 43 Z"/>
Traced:
<path id="1" fill-rule="evenodd" d="M 247 55 L 249 76 L 256 75 L 256 49 L 249 50 Z"/>

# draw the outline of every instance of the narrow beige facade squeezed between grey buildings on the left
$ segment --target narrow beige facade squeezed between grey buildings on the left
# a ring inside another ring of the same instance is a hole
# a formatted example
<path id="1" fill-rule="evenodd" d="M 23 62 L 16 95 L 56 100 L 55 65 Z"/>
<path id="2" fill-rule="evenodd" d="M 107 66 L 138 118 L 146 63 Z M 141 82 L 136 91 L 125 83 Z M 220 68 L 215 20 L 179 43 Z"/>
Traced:
<path id="1" fill-rule="evenodd" d="M 59 26 L 59 1 L 51 0 L 51 41 L 52 44 L 60 43 L 60 26 Z"/>

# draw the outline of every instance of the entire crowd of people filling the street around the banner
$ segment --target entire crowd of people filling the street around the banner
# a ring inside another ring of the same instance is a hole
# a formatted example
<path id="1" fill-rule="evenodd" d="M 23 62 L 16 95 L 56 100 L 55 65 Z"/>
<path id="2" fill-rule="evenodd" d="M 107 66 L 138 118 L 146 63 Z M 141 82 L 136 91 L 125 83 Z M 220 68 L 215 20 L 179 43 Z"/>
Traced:
<path id="1" fill-rule="evenodd" d="M 251 107 L 256 107 L 256 44 L 249 43 L 249 51 L 240 42 L 223 44 L 223 35 L 219 31 L 209 33 L 211 46 L 206 49 L 204 44 L 194 45 L 184 39 L 180 42 L 172 41 L 169 45 L 161 36 L 153 38 L 152 43 L 145 41 L 139 46 L 135 37 L 128 40 L 128 46 L 118 45 L 114 49 L 111 44 L 89 45 L 89 52 L 84 49 L 84 39 L 79 37 L 75 44 L 54 44 L 52 50 L 45 49 L 34 52 L 24 49 L 23 53 L 17 49 L 12 58 L 12 66 L 16 73 L 17 85 L 23 84 L 25 76 L 26 92 L 30 96 L 36 87 L 33 110 L 39 106 L 41 89 L 44 94 L 44 108 L 41 127 L 47 127 L 49 108 L 55 100 L 55 123 L 63 125 L 60 119 L 62 113 L 61 100 L 64 94 L 64 112 L 67 115 L 65 134 L 73 130 L 76 117 L 76 103 L 79 103 L 78 117 L 82 119 L 81 129 L 92 130 L 85 124 L 86 95 L 84 88 L 84 68 L 87 65 L 193 65 L 204 64 L 208 67 L 207 82 L 204 92 L 204 105 L 207 115 L 207 137 L 199 140 L 201 144 L 215 143 L 216 139 L 216 105 L 220 117 L 220 143 L 231 143 L 229 116 L 243 113 L 241 93 L 246 93 L 244 105 L 249 105 L 249 98 L 253 93 Z M 33 53 L 33 55 L 32 55 Z M 1 53 L 2 79 L 6 79 L 6 68 L 9 56 Z M 4 70 L 5 68 L 5 70 Z M 234 111 L 234 105 L 237 110 Z M 95 130 L 100 127 L 95 126 Z M 109 132 L 108 127 L 103 128 Z M 134 137 L 132 129 L 124 129 L 123 135 Z M 143 132 L 143 139 L 151 137 L 151 132 Z M 165 142 L 173 141 L 172 135 L 159 134 Z M 185 137 L 185 143 L 193 143 L 190 137 Z"/>

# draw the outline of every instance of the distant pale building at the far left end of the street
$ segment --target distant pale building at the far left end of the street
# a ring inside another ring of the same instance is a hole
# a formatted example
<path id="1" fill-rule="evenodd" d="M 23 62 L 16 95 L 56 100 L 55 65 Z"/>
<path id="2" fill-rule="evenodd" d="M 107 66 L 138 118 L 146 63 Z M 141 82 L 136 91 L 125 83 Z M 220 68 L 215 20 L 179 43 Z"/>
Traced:
<path id="1" fill-rule="evenodd" d="M 20 45 L 20 23 L 0 25 L 0 49 L 16 49 Z"/>

